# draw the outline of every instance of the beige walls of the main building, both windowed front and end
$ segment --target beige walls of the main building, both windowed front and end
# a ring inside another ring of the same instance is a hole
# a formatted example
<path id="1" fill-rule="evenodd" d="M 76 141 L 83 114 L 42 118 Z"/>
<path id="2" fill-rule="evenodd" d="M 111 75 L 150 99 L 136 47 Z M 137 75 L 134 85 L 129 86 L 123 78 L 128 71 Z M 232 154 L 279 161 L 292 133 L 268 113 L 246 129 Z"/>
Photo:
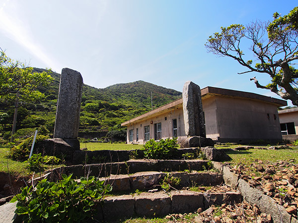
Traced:
<path id="1" fill-rule="evenodd" d="M 217 95 L 203 98 L 202 103 L 208 138 L 219 142 L 237 143 L 257 139 L 276 142 L 282 139 L 277 106 L 274 104 Z M 127 143 L 144 144 L 144 126 L 147 125 L 150 126 L 150 138 L 154 138 L 153 126 L 158 122 L 161 122 L 162 138 L 171 138 L 173 118 L 177 118 L 178 142 L 180 142 L 186 138 L 182 108 L 166 110 L 147 120 L 128 125 Z M 136 128 L 139 129 L 139 141 L 136 140 Z M 130 129 L 134 129 L 132 142 L 129 142 Z"/>

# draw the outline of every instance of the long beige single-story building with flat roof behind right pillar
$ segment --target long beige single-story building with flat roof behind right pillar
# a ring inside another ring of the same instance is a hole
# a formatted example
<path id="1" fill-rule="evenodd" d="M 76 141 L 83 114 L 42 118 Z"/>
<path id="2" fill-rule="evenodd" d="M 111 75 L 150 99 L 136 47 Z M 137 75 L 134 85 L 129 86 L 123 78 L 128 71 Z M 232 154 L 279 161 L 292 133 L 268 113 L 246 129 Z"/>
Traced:
<path id="1" fill-rule="evenodd" d="M 287 101 L 216 87 L 201 89 L 206 137 L 215 142 L 245 143 L 282 140 L 277 108 Z M 122 123 L 127 143 L 149 139 L 186 139 L 182 98 Z"/>

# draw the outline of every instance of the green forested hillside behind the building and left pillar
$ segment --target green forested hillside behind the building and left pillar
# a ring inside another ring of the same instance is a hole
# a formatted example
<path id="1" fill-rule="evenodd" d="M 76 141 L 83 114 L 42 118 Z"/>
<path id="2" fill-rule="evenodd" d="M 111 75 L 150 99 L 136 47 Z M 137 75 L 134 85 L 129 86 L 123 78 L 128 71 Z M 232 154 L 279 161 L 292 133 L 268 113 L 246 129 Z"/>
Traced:
<path id="1" fill-rule="evenodd" d="M 42 72 L 44 69 L 34 68 L 34 71 Z M 27 137 L 40 126 L 53 134 L 60 74 L 52 72 L 51 76 L 54 78 L 53 83 L 39 89 L 45 94 L 44 100 L 26 103 L 19 108 L 17 137 Z M 181 92 L 145 81 L 115 84 L 103 89 L 84 84 L 79 137 L 113 137 L 115 140 L 125 140 L 126 129 L 121 127 L 121 123 L 151 110 L 151 92 L 153 109 L 182 97 Z M 8 114 L 0 119 L 0 137 L 9 138 L 13 111 L 14 105 L 0 105 L 0 115 L 4 112 Z"/>

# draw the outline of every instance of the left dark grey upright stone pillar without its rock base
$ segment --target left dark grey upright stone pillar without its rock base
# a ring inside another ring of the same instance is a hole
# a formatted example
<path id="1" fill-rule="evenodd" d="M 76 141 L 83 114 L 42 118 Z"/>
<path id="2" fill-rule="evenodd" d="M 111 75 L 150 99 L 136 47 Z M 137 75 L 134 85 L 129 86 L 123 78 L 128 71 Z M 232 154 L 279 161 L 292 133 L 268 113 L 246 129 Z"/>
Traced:
<path id="1" fill-rule="evenodd" d="M 82 86 L 83 78 L 79 72 L 69 68 L 62 69 L 54 138 L 77 138 Z"/>

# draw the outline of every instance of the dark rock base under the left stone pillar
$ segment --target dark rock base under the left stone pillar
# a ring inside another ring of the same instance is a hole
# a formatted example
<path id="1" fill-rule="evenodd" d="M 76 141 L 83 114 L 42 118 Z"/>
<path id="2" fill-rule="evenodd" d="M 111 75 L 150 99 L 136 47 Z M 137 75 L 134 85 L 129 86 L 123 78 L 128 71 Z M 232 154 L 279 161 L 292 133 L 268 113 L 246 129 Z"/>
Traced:
<path id="1" fill-rule="evenodd" d="M 66 161 L 72 161 L 74 151 L 79 150 L 79 141 L 77 139 L 46 139 L 35 144 L 34 151 L 43 155 L 64 158 Z"/>

